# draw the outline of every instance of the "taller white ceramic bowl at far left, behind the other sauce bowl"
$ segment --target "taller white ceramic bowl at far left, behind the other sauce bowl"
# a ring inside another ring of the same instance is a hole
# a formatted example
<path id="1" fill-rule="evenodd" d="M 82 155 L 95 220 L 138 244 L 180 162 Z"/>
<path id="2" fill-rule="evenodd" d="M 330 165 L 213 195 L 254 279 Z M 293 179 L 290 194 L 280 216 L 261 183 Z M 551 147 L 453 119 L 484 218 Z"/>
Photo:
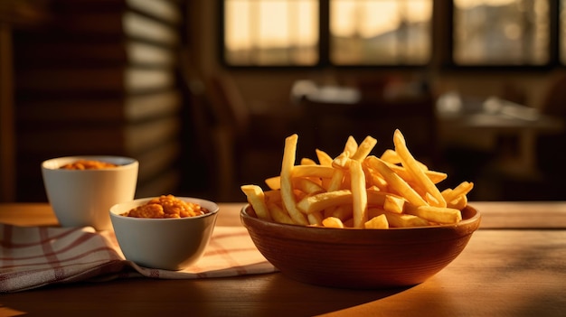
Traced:
<path id="1" fill-rule="evenodd" d="M 96 170 L 66 170 L 61 166 L 80 159 L 118 164 Z M 136 194 L 137 160 L 122 156 L 66 156 L 42 162 L 47 198 L 62 227 L 112 228 L 108 209 Z"/>

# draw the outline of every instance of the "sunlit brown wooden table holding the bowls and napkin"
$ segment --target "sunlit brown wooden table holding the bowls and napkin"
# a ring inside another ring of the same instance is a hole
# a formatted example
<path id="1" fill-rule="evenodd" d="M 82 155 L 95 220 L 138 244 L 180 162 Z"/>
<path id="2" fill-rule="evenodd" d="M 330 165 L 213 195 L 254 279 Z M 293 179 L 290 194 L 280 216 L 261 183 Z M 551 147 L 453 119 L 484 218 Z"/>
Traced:
<path id="1" fill-rule="evenodd" d="M 0 294 L 0 315 L 562 316 L 566 201 L 471 202 L 482 225 L 438 275 L 412 287 L 356 291 L 301 284 L 280 273 L 202 280 L 119 279 Z M 241 226 L 241 203 L 219 226 Z M 0 221 L 56 225 L 47 204 L 0 204 Z M 330 276 L 329 276 L 330 278 Z"/>

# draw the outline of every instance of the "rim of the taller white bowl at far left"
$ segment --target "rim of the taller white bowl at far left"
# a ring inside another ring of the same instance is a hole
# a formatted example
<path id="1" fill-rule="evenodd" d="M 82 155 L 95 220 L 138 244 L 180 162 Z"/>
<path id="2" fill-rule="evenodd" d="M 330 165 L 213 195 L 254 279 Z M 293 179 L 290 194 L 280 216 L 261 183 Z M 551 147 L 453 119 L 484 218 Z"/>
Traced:
<path id="1" fill-rule="evenodd" d="M 63 163 L 58 163 L 59 161 L 77 161 L 80 159 L 95 160 L 102 162 L 116 163 L 116 161 L 122 161 L 123 163 L 117 163 L 118 166 L 115 167 L 105 167 L 90 170 L 67 170 L 61 169 Z M 123 169 L 129 169 L 133 166 L 137 166 L 139 162 L 133 157 L 121 156 L 121 155 L 69 155 L 53 157 L 51 159 L 44 160 L 42 162 L 42 169 L 46 171 L 61 171 L 61 172 L 97 172 L 97 171 L 117 171 Z M 55 167 L 56 166 L 56 167 Z"/>

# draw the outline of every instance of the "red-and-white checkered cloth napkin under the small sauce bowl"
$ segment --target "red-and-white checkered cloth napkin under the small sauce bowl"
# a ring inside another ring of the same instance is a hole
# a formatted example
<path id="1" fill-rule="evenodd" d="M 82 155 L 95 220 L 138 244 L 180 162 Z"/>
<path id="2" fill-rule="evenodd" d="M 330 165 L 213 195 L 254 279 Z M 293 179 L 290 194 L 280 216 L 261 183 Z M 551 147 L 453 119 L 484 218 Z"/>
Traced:
<path id="1" fill-rule="evenodd" d="M 113 231 L 0 224 L 0 293 L 120 277 L 194 279 L 275 271 L 242 227 L 217 226 L 196 265 L 166 271 L 127 261 Z"/>

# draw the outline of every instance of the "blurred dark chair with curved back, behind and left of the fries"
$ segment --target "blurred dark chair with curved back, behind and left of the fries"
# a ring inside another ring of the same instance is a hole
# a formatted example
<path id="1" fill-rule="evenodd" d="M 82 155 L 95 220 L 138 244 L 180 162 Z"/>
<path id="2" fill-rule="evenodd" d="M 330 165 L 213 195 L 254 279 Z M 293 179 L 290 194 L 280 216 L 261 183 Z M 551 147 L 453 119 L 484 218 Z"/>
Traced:
<path id="1" fill-rule="evenodd" d="M 252 113 L 227 74 L 208 79 L 206 95 L 212 109 L 217 200 L 245 200 L 242 184 L 261 186 L 280 172 L 285 137 L 294 132 L 293 118 Z"/>

